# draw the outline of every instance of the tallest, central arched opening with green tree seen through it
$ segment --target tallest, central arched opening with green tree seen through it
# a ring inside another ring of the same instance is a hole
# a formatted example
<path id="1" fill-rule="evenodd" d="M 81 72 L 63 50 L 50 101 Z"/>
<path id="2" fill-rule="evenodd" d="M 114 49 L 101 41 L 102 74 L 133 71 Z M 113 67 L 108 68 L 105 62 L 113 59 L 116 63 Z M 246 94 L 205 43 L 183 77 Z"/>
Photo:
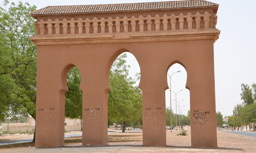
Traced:
<path id="1" fill-rule="evenodd" d="M 140 66 L 130 52 L 123 52 L 109 71 L 108 144 L 142 144 L 142 90 Z M 136 143 L 137 144 L 137 143 Z"/>

